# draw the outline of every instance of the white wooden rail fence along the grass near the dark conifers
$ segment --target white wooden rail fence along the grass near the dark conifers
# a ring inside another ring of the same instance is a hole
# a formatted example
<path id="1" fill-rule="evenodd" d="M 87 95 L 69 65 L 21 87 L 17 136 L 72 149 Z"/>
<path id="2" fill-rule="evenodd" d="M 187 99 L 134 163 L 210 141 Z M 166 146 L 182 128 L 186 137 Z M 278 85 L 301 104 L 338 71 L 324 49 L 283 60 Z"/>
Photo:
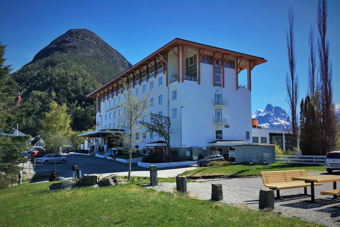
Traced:
<path id="1" fill-rule="evenodd" d="M 325 164 L 326 156 L 275 155 L 276 163 Z"/>

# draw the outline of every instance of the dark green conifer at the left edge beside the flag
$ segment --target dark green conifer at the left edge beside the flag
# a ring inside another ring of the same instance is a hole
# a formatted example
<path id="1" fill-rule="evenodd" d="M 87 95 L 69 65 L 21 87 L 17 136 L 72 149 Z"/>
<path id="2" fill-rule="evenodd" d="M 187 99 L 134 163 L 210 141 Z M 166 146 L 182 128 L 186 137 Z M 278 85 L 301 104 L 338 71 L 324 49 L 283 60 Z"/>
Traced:
<path id="1" fill-rule="evenodd" d="M 27 136 L 9 136 L 14 132 L 17 123 L 33 113 L 33 110 L 16 104 L 17 92 L 20 88 L 10 77 L 11 65 L 4 65 L 5 45 L 0 42 L 0 188 L 6 187 L 17 179 L 19 163 L 26 162 L 21 157 L 20 147 Z"/>

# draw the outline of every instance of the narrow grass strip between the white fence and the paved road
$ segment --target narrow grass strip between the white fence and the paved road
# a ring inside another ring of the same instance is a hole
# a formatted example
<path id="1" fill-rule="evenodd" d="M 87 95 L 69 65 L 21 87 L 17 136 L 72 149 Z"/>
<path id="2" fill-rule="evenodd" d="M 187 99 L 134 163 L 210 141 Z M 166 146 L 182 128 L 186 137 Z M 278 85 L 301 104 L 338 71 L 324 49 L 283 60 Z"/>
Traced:
<path id="1" fill-rule="evenodd" d="M 326 171 L 324 165 L 311 164 L 287 164 L 275 163 L 271 165 L 229 165 L 229 166 L 208 166 L 185 171 L 182 176 L 199 178 L 211 176 L 259 176 L 262 171 L 284 171 L 294 169 L 306 169 L 307 172 Z"/>

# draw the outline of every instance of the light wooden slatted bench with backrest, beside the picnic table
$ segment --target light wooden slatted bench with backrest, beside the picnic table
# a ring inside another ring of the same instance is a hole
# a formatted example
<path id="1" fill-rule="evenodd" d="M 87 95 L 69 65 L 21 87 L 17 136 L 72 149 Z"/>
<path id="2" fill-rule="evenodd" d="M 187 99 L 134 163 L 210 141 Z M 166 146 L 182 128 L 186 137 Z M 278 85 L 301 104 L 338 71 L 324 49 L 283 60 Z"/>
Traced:
<path id="1" fill-rule="evenodd" d="M 280 190 L 304 188 L 304 193 L 307 195 L 307 187 L 310 187 L 310 183 L 304 181 L 292 180 L 292 177 L 305 177 L 307 171 L 301 170 L 288 170 L 288 171 L 270 171 L 261 172 L 263 184 L 272 190 L 276 190 L 276 197 L 280 198 Z M 314 185 L 322 185 L 322 183 L 314 183 Z"/>

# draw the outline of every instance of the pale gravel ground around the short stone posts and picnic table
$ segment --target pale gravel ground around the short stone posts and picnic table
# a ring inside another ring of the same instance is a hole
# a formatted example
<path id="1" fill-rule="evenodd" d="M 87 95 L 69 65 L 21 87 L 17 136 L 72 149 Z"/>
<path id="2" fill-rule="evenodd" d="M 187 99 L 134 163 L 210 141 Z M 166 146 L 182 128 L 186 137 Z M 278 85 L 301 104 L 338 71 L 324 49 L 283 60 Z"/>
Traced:
<path id="1" fill-rule="evenodd" d="M 223 184 L 222 187 L 223 200 L 221 202 L 232 205 L 245 203 L 250 208 L 258 209 L 260 189 L 226 184 Z M 147 188 L 167 192 L 176 188 L 176 183 L 159 183 L 157 186 Z M 187 190 L 198 199 L 209 200 L 211 198 L 211 184 L 209 183 L 190 182 L 187 183 Z M 315 201 L 317 203 L 313 204 L 306 202 L 310 201 L 309 196 L 285 190 L 280 190 L 280 196 L 283 199 L 275 199 L 273 212 L 282 212 L 282 216 L 297 217 L 326 226 L 340 226 L 340 209 L 334 208 L 334 206 L 340 206 L 339 200 L 333 199 L 331 196 L 316 194 Z"/>

